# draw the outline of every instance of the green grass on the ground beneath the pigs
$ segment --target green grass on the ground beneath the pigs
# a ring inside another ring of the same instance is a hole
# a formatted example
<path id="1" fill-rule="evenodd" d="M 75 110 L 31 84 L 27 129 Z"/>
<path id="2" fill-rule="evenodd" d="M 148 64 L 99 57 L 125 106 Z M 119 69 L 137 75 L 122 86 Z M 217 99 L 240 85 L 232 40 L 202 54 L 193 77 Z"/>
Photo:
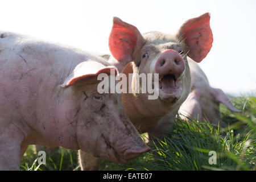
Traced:
<path id="1" fill-rule="evenodd" d="M 102 160 L 101 170 L 255 170 L 256 98 L 232 99 L 242 113 L 220 107 L 224 129 L 207 121 L 176 119 L 170 138 L 150 142 L 154 150 L 126 164 Z M 209 164 L 209 151 L 216 151 L 217 164 Z M 49 153 L 49 154 L 48 154 Z M 47 152 L 46 165 L 38 167 L 38 155 L 32 146 L 20 163 L 21 170 L 80 170 L 77 152 L 62 147 Z"/>

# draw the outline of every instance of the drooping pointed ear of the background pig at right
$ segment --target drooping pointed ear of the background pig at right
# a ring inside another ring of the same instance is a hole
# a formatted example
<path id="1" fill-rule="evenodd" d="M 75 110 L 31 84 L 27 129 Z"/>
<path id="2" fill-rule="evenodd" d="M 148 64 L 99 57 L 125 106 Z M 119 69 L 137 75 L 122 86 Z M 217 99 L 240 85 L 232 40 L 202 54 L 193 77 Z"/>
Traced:
<path id="1" fill-rule="evenodd" d="M 213 89 L 212 95 L 215 98 L 217 102 L 221 102 L 226 107 L 228 107 L 229 110 L 233 112 L 241 112 L 241 110 L 238 110 L 230 101 L 229 97 L 221 90 L 221 89 Z"/>

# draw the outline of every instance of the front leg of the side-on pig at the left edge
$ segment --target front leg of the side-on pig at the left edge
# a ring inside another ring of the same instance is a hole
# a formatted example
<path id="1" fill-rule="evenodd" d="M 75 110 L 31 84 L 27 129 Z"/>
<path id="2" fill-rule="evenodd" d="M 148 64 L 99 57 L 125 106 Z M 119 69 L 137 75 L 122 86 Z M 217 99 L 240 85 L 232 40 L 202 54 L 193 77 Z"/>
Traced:
<path id="1" fill-rule="evenodd" d="M 0 133 L 0 171 L 19 170 L 23 134 L 14 127 L 3 127 Z"/>

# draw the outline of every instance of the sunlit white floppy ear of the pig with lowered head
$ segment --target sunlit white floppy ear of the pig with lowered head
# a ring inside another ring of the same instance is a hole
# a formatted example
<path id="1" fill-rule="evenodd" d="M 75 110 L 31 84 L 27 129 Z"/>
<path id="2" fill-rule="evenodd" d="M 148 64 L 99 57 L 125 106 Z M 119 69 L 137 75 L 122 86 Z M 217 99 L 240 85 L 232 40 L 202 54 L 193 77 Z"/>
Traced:
<path id="1" fill-rule="evenodd" d="M 73 72 L 65 79 L 61 87 L 65 88 L 79 81 L 82 81 L 83 84 L 86 84 L 89 83 L 88 80 L 90 78 L 94 78 L 94 81 L 97 82 L 97 76 L 100 73 L 106 73 L 110 75 L 112 70 L 115 75 L 118 74 L 118 71 L 114 66 L 106 67 L 105 65 L 96 61 L 84 61 L 78 64 L 75 69 L 73 69 Z"/>

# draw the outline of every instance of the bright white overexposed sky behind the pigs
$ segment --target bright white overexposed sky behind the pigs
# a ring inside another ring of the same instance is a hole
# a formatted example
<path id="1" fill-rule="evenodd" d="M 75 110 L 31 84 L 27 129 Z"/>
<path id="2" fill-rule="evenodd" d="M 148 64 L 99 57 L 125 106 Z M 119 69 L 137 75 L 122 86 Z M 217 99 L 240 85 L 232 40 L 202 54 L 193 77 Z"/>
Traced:
<path id="1" fill-rule="evenodd" d="M 210 85 L 233 95 L 256 93 L 254 0 L 0 0 L 0 5 L 1 31 L 99 53 L 109 53 L 113 16 L 142 34 L 175 34 L 185 20 L 209 12 L 213 47 L 199 65 Z"/>

